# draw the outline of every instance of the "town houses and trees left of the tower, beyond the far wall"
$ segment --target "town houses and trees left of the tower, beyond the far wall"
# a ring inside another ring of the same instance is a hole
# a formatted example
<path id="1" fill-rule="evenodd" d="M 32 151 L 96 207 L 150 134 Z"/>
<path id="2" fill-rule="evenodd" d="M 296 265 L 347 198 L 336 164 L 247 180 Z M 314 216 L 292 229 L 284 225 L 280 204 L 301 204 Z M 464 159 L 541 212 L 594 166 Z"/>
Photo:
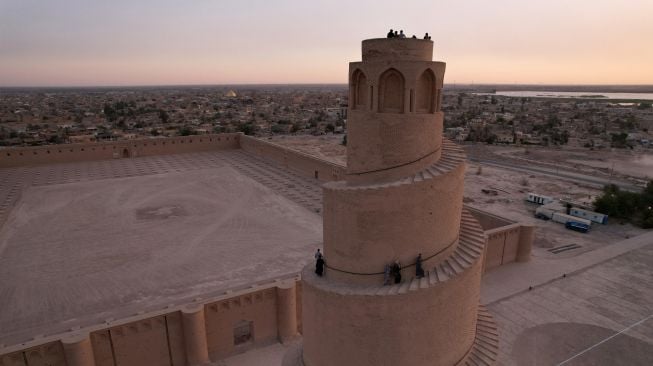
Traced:
<path id="1" fill-rule="evenodd" d="M 346 118 L 346 89 L 334 86 L 0 90 L 0 146 L 238 131 L 341 133 Z"/>

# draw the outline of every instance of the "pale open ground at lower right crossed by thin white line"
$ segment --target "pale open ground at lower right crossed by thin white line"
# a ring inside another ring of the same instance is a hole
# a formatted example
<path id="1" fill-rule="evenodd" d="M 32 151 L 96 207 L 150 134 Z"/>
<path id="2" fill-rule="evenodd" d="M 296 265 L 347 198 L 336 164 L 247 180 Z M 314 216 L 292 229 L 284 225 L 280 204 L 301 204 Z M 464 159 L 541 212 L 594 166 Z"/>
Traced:
<path id="1" fill-rule="evenodd" d="M 579 264 L 568 261 L 570 268 L 557 268 L 568 273 L 566 277 L 558 272 L 553 281 L 539 286 L 533 283 L 531 291 L 522 287 L 519 293 L 490 303 L 488 309 L 498 324 L 500 337 L 498 364 L 651 365 L 653 243 L 647 240 L 641 244 L 639 249 L 577 273 L 569 270 L 577 269 Z M 601 250 L 584 257 L 598 252 Z M 482 291 L 489 290 L 489 280 L 502 289 L 523 282 L 539 272 L 533 267 L 520 263 L 498 268 L 483 278 Z M 535 267 L 546 271 L 558 267 L 558 263 Z"/>

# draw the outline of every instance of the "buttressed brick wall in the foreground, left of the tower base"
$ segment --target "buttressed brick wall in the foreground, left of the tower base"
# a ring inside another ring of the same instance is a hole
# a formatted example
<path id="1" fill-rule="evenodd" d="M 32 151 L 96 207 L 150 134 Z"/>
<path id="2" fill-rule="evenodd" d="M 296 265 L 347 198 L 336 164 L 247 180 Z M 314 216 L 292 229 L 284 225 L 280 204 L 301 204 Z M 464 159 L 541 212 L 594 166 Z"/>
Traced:
<path id="1" fill-rule="evenodd" d="M 298 277 L 2 348 L 0 366 L 199 365 L 294 339 Z"/>

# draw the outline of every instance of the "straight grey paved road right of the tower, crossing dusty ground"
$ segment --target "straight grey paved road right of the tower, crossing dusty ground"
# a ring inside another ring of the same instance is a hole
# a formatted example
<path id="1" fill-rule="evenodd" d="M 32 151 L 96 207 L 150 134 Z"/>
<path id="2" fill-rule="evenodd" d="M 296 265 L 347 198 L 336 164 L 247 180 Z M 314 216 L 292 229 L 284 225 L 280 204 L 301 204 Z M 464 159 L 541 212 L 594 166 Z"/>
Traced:
<path id="1" fill-rule="evenodd" d="M 553 169 L 553 168 L 547 168 L 543 166 L 525 165 L 512 161 L 499 160 L 499 159 L 483 159 L 477 157 L 470 157 L 469 160 L 484 165 L 496 166 L 499 168 L 516 170 L 516 171 L 526 172 L 526 173 L 544 174 L 544 175 L 549 175 L 549 176 L 570 180 L 574 182 L 587 183 L 598 187 L 603 187 L 607 184 L 616 184 L 617 186 L 619 186 L 619 188 L 631 192 L 640 192 L 642 190 L 642 187 L 636 186 L 629 182 L 618 181 L 615 179 L 606 179 L 602 177 L 596 177 L 593 175 L 576 173 L 564 169 Z"/>

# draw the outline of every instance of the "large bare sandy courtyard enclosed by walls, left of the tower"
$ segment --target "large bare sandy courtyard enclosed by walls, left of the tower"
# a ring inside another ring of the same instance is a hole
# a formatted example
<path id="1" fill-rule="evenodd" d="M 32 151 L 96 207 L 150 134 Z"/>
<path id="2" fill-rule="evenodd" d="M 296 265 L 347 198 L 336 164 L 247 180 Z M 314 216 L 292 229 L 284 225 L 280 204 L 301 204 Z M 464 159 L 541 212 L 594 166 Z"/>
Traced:
<path id="1" fill-rule="evenodd" d="M 89 180 L 106 162 L 59 165 L 81 181 L 26 188 L 0 232 L 0 343 L 299 271 L 322 238 L 321 217 L 284 197 L 300 183 L 272 169 L 263 185 L 264 163 L 240 153 L 237 170 L 225 154 L 158 174 L 188 156 L 111 161 L 108 176 L 143 168 L 112 179 Z"/>

